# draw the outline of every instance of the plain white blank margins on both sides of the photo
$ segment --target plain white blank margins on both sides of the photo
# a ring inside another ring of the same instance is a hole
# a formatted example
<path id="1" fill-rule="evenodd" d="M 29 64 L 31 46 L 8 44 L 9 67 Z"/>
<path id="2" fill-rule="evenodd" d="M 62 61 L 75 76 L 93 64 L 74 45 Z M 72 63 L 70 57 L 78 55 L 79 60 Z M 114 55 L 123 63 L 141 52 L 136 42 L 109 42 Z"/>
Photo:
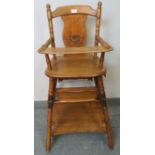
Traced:
<path id="1" fill-rule="evenodd" d="M 121 0 L 121 155 L 154 155 L 155 1 Z M 0 154 L 34 154 L 34 3 L 0 5 Z"/>

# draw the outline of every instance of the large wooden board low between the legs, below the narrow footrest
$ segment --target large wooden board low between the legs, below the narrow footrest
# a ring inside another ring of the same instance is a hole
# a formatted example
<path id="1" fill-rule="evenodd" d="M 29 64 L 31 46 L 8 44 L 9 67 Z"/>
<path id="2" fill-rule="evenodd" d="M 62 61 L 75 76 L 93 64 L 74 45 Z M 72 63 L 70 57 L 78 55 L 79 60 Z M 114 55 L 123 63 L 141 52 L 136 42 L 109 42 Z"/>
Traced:
<path id="1" fill-rule="evenodd" d="M 54 135 L 105 131 L 99 102 L 54 104 L 53 108 Z"/>

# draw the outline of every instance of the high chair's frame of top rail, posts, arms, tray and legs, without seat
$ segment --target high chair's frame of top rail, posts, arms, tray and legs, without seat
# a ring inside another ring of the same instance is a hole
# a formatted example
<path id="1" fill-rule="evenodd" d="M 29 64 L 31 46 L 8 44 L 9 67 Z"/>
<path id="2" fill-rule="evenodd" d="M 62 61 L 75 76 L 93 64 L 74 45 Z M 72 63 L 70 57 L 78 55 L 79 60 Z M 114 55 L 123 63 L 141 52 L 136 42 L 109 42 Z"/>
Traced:
<path id="1" fill-rule="evenodd" d="M 112 50 L 111 46 L 104 41 L 103 38 L 100 37 L 100 25 L 101 25 L 101 11 L 102 11 L 102 3 L 98 2 L 97 10 L 94 10 L 90 6 L 80 6 L 80 5 L 73 5 L 73 6 L 65 6 L 59 7 L 55 11 L 51 11 L 51 7 L 47 4 L 47 17 L 48 17 L 48 26 L 50 32 L 50 38 L 41 46 L 38 50 L 39 53 L 45 55 L 46 63 L 49 70 L 52 70 L 52 64 L 50 61 L 50 55 L 56 59 L 57 55 L 61 55 L 68 51 L 68 54 L 79 54 L 80 51 L 83 53 L 83 50 L 87 51 L 87 53 L 93 53 L 96 55 L 97 53 L 101 53 L 99 63 L 102 66 L 104 63 L 104 56 L 105 52 L 109 52 Z M 76 12 L 70 12 L 70 10 L 77 10 Z M 77 48 L 69 48 L 67 50 L 65 48 L 56 48 L 55 47 L 55 38 L 54 38 L 54 31 L 53 31 L 53 18 L 59 16 L 66 16 L 71 14 L 80 14 L 80 15 L 89 15 L 96 17 L 96 31 L 95 31 L 95 43 L 93 48 L 85 48 L 85 47 L 77 47 Z M 101 45 L 101 46 L 99 46 Z M 51 47 L 49 47 L 51 46 Z M 84 49 L 85 48 L 85 49 Z M 51 137 L 53 135 L 53 128 L 54 123 L 52 121 L 53 117 L 53 105 L 55 102 L 55 90 L 56 84 L 58 80 L 63 80 L 58 78 L 49 78 L 49 91 L 48 91 L 48 116 L 47 116 L 47 135 L 46 135 L 46 151 L 49 152 L 51 150 Z M 77 77 L 77 79 L 84 79 L 83 77 Z M 96 89 L 98 91 L 99 101 L 102 104 L 103 114 L 104 114 L 104 122 L 105 122 L 105 129 L 104 132 L 107 134 L 108 138 L 108 145 L 110 148 L 113 148 L 113 141 L 112 141 L 112 134 L 111 134 L 111 127 L 109 122 L 109 114 L 108 108 L 106 103 L 106 95 L 104 89 L 104 83 L 102 79 L 102 75 L 96 77 L 86 77 L 86 79 L 93 79 L 95 82 Z"/>

